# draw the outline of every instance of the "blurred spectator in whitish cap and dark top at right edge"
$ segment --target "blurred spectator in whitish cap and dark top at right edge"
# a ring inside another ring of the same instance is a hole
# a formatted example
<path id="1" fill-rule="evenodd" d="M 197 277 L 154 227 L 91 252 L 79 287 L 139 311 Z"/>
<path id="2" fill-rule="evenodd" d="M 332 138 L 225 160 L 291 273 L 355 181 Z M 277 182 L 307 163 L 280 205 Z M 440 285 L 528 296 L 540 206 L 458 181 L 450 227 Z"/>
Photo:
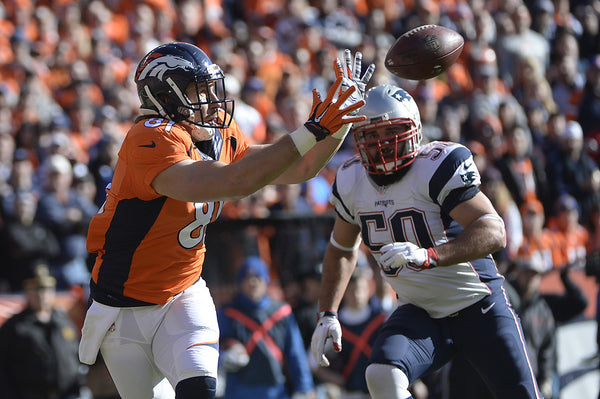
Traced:
<path id="1" fill-rule="evenodd" d="M 587 220 L 593 204 L 600 201 L 600 169 L 585 151 L 583 131 L 576 121 L 567 121 L 560 143 L 558 162 L 546 164 L 553 189 L 550 198 L 573 196 L 580 208 L 580 220 Z"/>

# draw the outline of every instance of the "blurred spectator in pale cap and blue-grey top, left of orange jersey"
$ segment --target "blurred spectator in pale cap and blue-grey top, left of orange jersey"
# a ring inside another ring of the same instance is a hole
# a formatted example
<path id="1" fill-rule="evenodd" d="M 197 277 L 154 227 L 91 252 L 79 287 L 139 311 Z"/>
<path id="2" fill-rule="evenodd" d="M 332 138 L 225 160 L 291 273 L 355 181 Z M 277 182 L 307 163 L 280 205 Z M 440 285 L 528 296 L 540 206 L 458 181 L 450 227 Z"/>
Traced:
<path id="1" fill-rule="evenodd" d="M 90 274 L 85 240 L 89 222 L 98 208 L 72 188 L 73 167 L 64 156 L 51 155 L 41 168 L 44 191 L 36 218 L 59 238 L 61 249 L 50 270 L 61 289 L 87 286 Z"/>

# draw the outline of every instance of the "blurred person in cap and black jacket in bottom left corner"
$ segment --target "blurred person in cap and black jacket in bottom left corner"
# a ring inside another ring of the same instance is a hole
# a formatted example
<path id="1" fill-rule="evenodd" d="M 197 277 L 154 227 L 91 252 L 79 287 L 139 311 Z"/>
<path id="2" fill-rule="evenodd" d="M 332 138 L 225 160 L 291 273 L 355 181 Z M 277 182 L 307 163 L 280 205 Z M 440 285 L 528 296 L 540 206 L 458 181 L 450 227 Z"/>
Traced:
<path id="1" fill-rule="evenodd" d="M 0 390 L 6 399 L 76 399 L 82 394 L 79 332 L 54 305 L 45 265 L 23 282 L 25 309 L 0 328 Z"/>

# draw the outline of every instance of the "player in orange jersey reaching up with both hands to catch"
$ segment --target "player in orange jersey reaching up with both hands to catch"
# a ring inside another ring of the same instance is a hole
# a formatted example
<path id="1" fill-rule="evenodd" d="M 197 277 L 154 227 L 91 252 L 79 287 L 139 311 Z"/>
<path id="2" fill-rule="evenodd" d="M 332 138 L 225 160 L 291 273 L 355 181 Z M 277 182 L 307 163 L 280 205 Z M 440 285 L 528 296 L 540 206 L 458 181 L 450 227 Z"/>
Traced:
<path id="1" fill-rule="evenodd" d="M 169 43 L 141 61 L 141 116 L 124 139 L 106 202 L 90 223 L 92 303 L 79 356 L 101 351 L 124 399 L 214 398 L 219 328 L 201 277 L 206 226 L 223 201 L 314 177 L 340 146 L 374 66 L 359 53 L 308 121 L 273 144 L 248 145 L 221 68 L 198 47 Z M 161 383 L 164 379 L 170 384 Z"/>

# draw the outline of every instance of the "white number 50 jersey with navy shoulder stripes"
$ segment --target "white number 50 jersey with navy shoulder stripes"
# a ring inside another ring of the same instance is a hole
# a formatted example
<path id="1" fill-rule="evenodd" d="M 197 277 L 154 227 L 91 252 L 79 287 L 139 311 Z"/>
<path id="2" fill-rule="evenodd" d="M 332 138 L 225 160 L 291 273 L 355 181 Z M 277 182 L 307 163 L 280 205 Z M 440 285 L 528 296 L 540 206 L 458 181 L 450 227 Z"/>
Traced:
<path id="1" fill-rule="evenodd" d="M 470 151 L 456 143 L 424 145 L 408 172 L 389 186 L 377 186 L 358 156 L 342 165 L 331 203 L 338 215 L 361 229 L 362 240 L 379 260 L 380 248 L 410 241 L 429 248 L 456 237 L 463 228 L 449 212 L 479 192 L 480 176 Z M 406 266 L 382 275 L 401 302 L 433 318 L 451 315 L 489 295 L 487 281 L 502 278 L 491 256 L 452 266 L 415 271 Z"/>

